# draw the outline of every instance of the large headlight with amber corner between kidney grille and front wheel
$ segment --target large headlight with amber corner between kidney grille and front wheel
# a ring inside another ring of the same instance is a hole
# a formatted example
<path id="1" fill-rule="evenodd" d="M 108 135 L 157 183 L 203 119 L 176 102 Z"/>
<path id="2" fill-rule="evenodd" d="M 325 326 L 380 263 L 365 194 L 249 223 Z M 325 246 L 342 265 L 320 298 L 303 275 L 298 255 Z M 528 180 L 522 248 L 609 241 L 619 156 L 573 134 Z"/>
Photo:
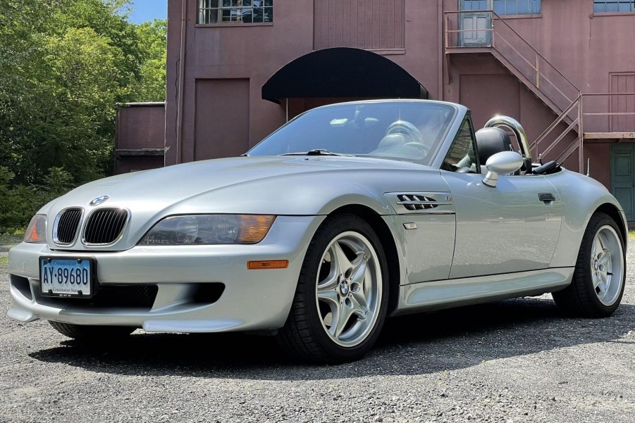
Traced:
<path id="1" fill-rule="evenodd" d="M 140 245 L 256 244 L 269 232 L 272 215 L 189 215 L 166 217 Z"/>

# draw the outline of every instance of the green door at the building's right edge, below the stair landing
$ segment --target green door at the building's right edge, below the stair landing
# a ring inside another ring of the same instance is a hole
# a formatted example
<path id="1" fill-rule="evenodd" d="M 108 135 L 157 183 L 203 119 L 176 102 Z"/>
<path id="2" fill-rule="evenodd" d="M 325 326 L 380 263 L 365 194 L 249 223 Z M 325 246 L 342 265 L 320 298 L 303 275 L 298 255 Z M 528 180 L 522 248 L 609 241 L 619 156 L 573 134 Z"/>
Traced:
<path id="1" fill-rule="evenodd" d="M 635 220 L 635 144 L 611 146 L 611 190 L 627 220 Z"/>

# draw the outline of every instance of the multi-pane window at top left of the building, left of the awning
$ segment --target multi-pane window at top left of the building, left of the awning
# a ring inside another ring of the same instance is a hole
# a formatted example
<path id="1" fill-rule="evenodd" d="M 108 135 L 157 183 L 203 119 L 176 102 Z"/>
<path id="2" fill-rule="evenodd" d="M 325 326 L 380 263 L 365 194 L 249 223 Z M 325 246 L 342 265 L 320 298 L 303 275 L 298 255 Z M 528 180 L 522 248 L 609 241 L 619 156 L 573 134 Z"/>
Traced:
<path id="1" fill-rule="evenodd" d="M 199 0 L 196 23 L 271 23 L 273 0 Z"/>

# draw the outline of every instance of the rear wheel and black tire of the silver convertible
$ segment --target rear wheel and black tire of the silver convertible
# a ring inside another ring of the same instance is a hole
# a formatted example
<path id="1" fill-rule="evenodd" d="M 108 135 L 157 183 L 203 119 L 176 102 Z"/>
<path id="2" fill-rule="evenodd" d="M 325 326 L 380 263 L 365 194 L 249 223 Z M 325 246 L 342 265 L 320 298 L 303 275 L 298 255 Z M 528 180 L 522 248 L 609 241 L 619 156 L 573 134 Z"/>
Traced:
<path id="1" fill-rule="evenodd" d="M 600 244 L 596 244 L 594 251 L 595 240 L 600 240 Z M 603 246 L 602 242 L 606 245 Z M 598 260 L 600 253 L 604 255 Z M 582 237 L 571 284 L 552 293 L 557 306 L 567 315 L 577 317 L 612 315 L 624 294 L 625 253 L 624 239 L 615 220 L 605 213 L 593 215 Z M 607 260 L 607 256 L 608 265 L 605 266 L 606 263 L 600 262 Z M 602 277 L 607 282 L 597 285 Z"/>

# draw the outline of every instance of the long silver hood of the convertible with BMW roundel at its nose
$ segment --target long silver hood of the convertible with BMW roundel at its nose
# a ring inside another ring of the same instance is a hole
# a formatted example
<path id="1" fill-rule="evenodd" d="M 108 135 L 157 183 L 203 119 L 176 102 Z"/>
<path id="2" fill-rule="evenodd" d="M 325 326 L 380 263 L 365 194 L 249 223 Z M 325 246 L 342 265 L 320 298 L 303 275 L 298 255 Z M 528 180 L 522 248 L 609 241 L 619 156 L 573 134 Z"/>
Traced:
<path id="1" fill-rule="evenodd" d="M 408 172 L 416 175 L 407 177 Z M 422 174 L 436 177 L 421 179 Z M 422 185 L 427 179 L 429 183 Z M 443 191 L 445 185 L 438 169 L 398 160 L 346 156 L 224 158 L 99 179 L 52 201 L 40 213 L 49 215 L 52 222 L 52 217 L 68 207 L 81 207 L 85 214 L 98 208 L 126 208 L 130 210 L 129 233 L 121 242 L 129 247 L 168 215 L 320 215 L 345 203 L 392 214 L 395 212 L 383 194 L 402 189 Z M 101 196 L 109 198 L 90 206 Z"/>

